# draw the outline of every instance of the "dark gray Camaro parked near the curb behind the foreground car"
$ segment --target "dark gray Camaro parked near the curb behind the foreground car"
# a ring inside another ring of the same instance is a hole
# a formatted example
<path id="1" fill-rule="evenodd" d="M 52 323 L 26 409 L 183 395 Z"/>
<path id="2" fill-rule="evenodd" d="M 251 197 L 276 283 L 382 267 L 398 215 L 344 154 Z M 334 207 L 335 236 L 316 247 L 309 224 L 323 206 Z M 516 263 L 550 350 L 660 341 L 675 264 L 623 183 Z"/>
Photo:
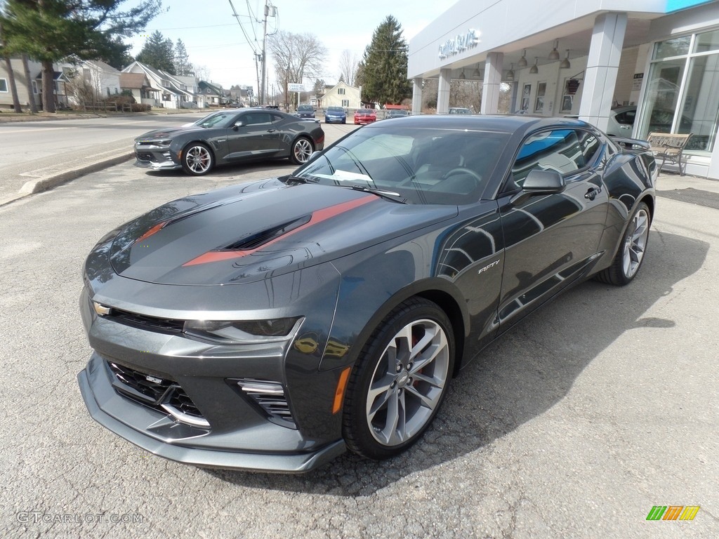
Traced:
<path id="1" fill-rule="evenodd" d="M 296 165 L 324 148 L 318 121 L 270 109 L 224 109 L 193 124 L 134 140 L 135 166 L 203 175 L 217 165 L 289 157 Z"/>

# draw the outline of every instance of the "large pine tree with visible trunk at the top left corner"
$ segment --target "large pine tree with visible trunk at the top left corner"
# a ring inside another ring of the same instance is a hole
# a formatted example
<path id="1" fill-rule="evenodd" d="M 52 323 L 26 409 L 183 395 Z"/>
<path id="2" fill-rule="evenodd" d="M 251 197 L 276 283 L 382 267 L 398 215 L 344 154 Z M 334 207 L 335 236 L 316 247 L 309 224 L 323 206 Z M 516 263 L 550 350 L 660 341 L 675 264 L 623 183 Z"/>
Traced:
<path id="1" fill-rule="evenodd" d="M 109 58 L 116 39 L 142 31 L 162 7 L 142 0 L 121 11 L 126 0 L 6 0 L 0 11 L 3 55 L 27 54 L 42 63 L 42 106 L 55 111 L 52 64 L 75 56 Z"/>

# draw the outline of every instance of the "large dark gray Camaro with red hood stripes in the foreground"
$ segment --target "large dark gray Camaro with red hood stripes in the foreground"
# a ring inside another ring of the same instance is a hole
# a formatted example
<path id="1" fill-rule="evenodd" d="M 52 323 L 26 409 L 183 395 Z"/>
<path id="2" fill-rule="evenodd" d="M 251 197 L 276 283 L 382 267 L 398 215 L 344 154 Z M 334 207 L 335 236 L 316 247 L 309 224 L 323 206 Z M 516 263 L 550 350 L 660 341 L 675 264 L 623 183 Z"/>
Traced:
<path id="1" fill-rule="evenodd" d="M 172 201 L 88 256 L 83 398 L 188 464 L 393 456 L 500 333 L 587 277 L 633 280 L 656 174 L 582 121 L 412 116 Z"/>

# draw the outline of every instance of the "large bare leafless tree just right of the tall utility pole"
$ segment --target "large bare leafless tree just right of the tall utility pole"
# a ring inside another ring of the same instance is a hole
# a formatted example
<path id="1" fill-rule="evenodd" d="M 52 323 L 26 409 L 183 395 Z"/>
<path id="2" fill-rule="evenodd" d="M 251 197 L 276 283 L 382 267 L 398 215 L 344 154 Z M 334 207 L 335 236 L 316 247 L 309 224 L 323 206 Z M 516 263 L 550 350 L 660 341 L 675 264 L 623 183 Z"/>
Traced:
<path id="1" fill-rule="evenodd" d="M 277 79 L 282 80 L 285 101 L 288 83 L 302 83 L 304 78 L 321 75 L 327 58 L 327 47 L 313 34 L 293 34 L 280 30 L 268 37 L 267 45 L 275 60 Z"/>

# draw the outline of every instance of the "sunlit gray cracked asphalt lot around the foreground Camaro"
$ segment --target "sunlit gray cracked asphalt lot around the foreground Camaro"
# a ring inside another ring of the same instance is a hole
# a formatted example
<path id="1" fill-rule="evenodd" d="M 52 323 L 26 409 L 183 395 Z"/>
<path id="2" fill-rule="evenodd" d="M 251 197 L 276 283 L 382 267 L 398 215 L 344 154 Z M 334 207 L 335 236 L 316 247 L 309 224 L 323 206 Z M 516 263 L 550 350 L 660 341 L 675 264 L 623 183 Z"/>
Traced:
<path id="1" fill-rule="evenodd" d="M 172 198 L 291 170 L 189 178 L 127 162 L 0 208 L 1 537 L 719 537 L 718 184 L 706 180 L 662 176 L 638 278 L 585 282 L 523 321 L 453 380 L 397 459 L 345 455 L 303 476 L 198 469 L 91 420 L 75 380 L 90 355 L 77 307 L 89 249 Z M 701 508 L 646 520 L 655 505 Z"/>

